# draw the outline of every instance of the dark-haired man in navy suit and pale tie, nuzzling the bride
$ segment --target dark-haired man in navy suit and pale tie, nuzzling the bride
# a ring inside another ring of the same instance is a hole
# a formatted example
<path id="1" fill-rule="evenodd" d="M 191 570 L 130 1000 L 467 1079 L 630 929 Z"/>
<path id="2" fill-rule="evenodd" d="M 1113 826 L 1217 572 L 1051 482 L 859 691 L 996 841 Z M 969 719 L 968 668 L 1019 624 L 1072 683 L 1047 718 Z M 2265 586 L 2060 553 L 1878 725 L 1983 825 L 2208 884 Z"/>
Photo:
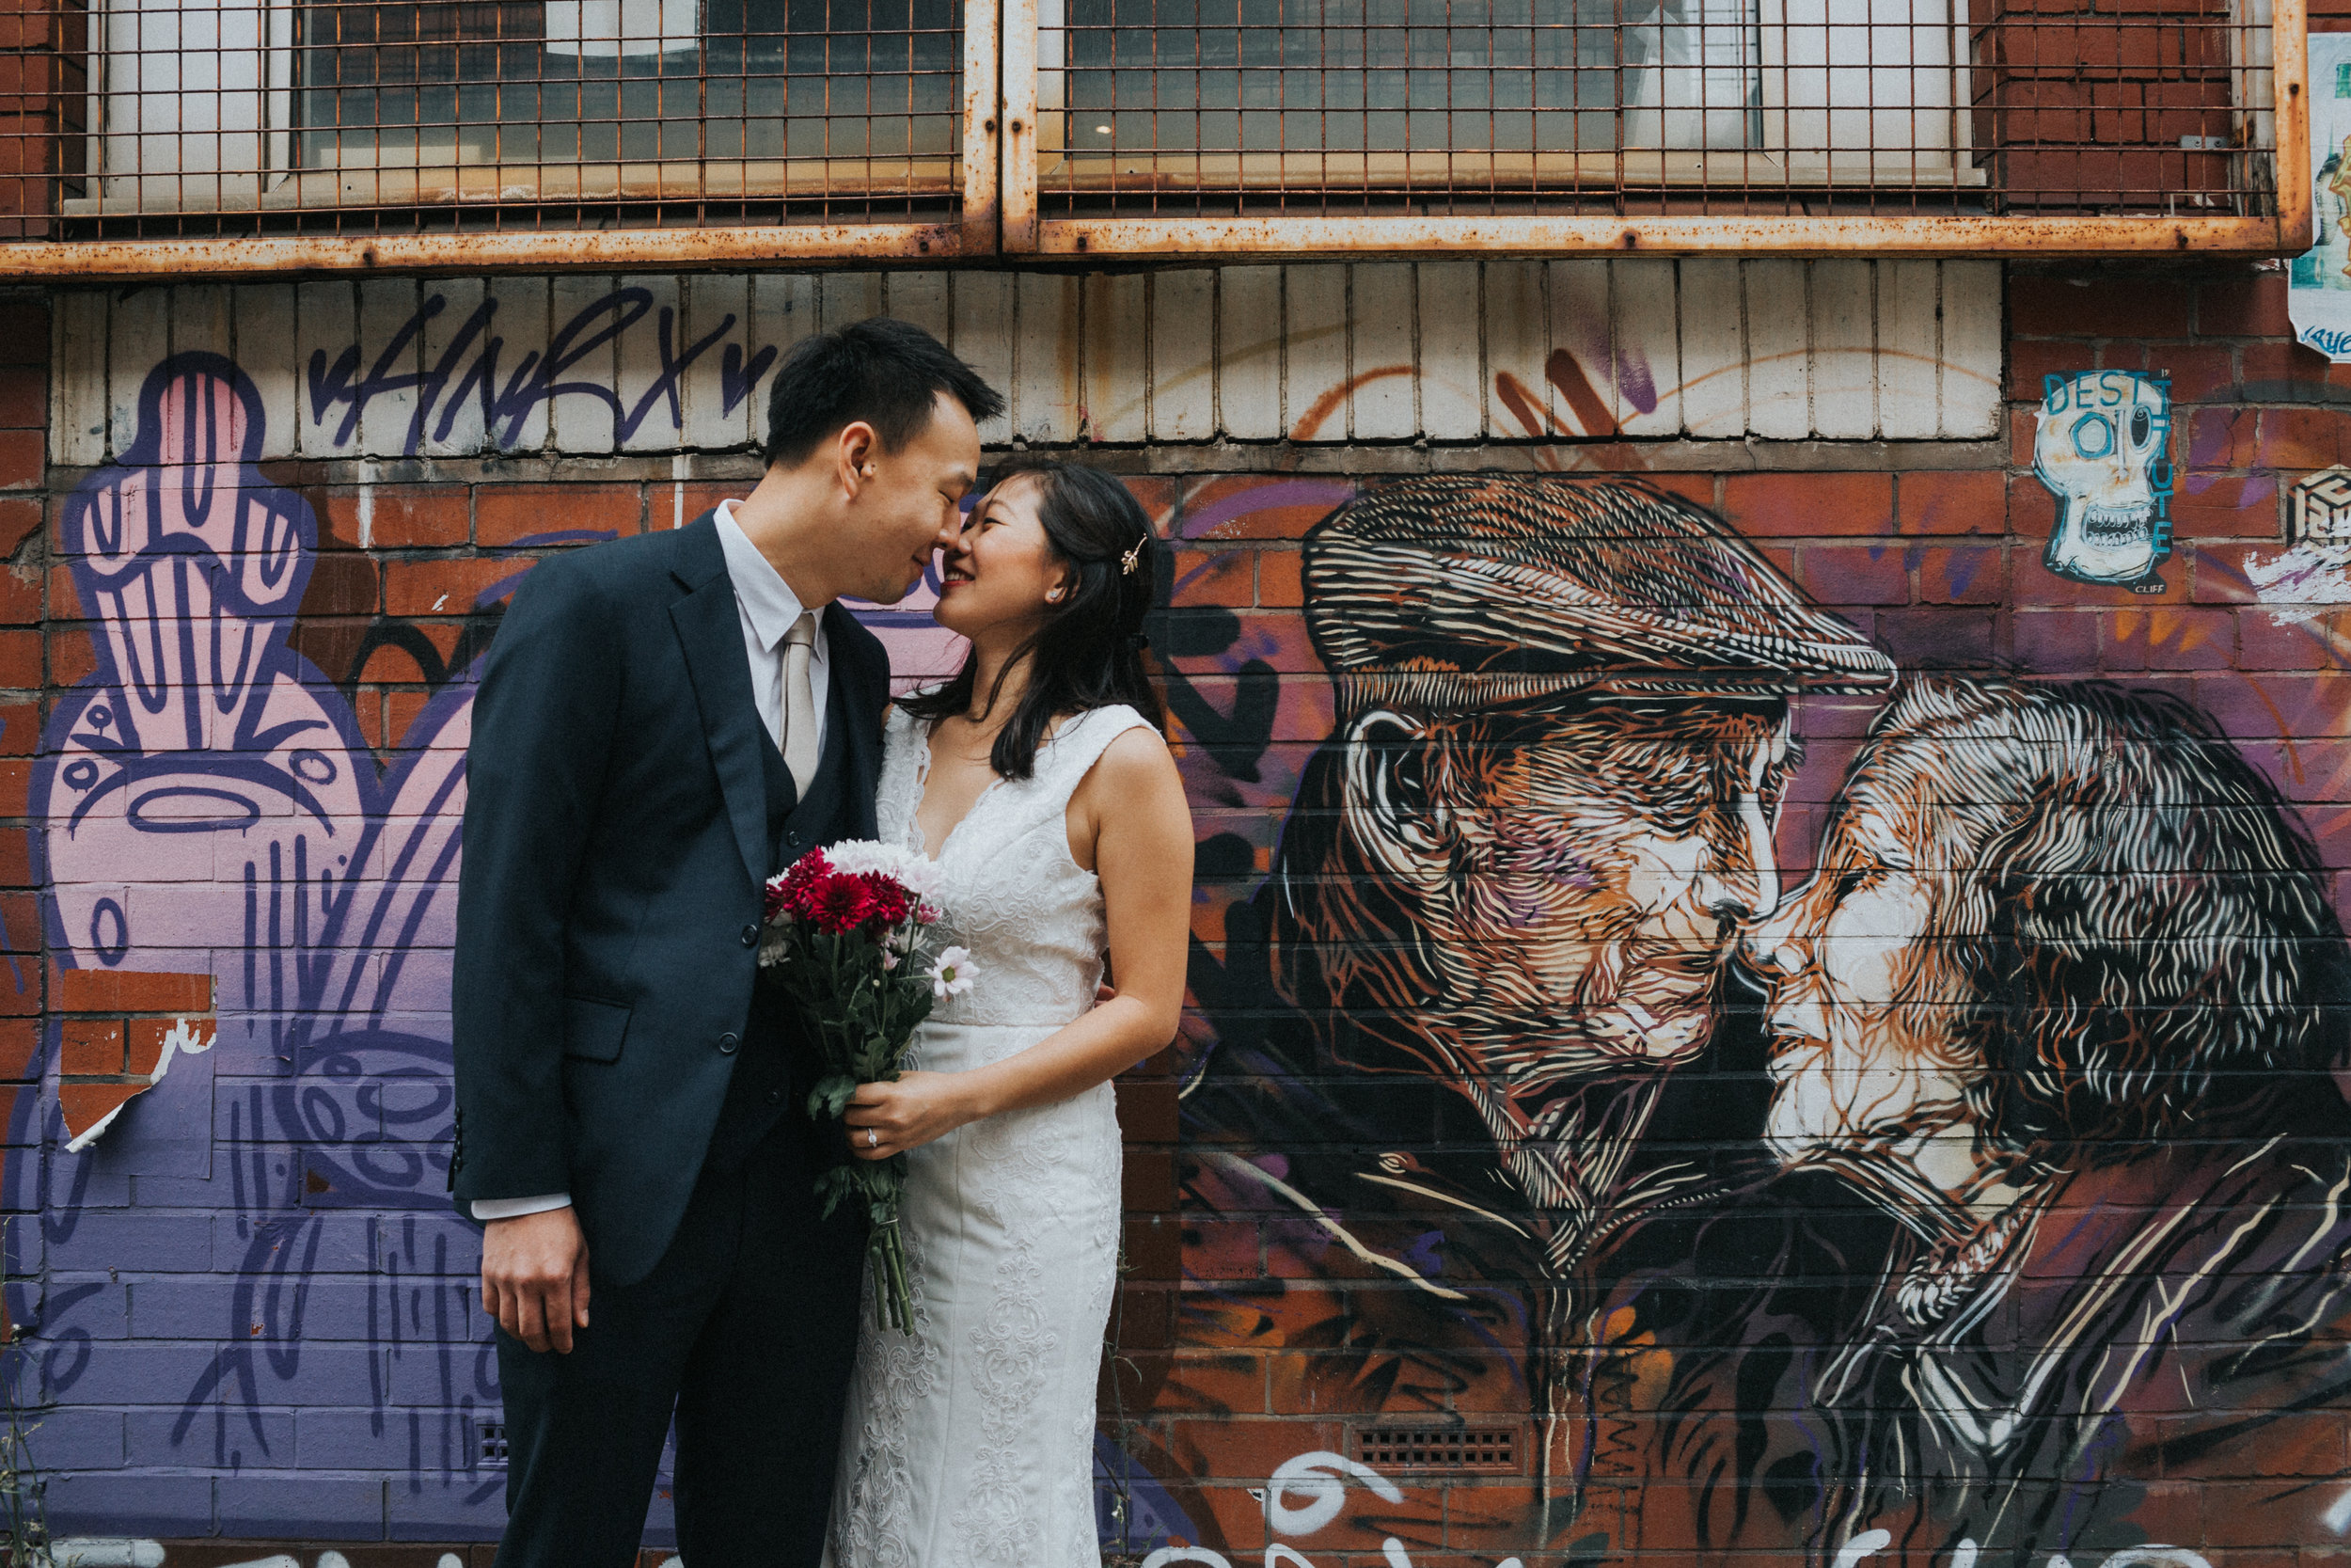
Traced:
<path id="1" fill-rule="evenodd" d="M 635 1561 L 677 1422 L 701 1568 L 816 1568 L 863 1258 L 811 1048 L 755 990 L 762 884 L 875 832 L 896 602 L 955 541 L 1002 397 L 868 320 L 776 371 L 766 475 L 550 559 L 482 670 L 456 936 L 458 1211 L 484 1225 L 501 1568 Z"/>

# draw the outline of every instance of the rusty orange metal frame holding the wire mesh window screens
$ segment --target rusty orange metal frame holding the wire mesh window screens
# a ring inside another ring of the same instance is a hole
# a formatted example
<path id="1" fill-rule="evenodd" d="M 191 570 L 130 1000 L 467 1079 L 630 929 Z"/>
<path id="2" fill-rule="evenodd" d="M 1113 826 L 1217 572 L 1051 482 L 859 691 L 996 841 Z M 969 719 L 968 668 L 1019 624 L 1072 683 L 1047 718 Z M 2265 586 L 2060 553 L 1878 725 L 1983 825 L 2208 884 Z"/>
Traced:
<path id="1" fill-rule="evenodd" d="M 263 9 L 270 0 L 256 0 Z M 2292 256 L 2311 244 L 2306 0 L 2236 0 L 2231 66 L 2259 68 L 2266 101 L 2233 108 L 2269 150 L 2276 212 L 2198 214 L 1573 214 L 1573 216 L 1044 216 L 1039 146 L 1041 0 L 966 0 L 962 207 L 952 221 L 734 223 L 705 228 L 531 228 L 461 233 L 120 237 L 5 242 L 19 277 L 202 273 L 649 270 L 776 263 L 1349 259 L 1349 256 Z M 2252 59 L 2241 59 L 2252 45 Z M 2259 54 L 2269 59 L 2262 61 Z M 103 89 L 92 82 L 92 101 Z M 103 146 L 92 125 L 87 146 Z M 261 134 L 270 134 L 263 129 Z M 1726 158 L 1728 153 L 1690 153 Z M 1742 153 L 1751 155 L 1751 153 Z M 94 162 L 94 160 L 92 160 Z M 96 169 L 87 179 L 99 179 Z"/>

